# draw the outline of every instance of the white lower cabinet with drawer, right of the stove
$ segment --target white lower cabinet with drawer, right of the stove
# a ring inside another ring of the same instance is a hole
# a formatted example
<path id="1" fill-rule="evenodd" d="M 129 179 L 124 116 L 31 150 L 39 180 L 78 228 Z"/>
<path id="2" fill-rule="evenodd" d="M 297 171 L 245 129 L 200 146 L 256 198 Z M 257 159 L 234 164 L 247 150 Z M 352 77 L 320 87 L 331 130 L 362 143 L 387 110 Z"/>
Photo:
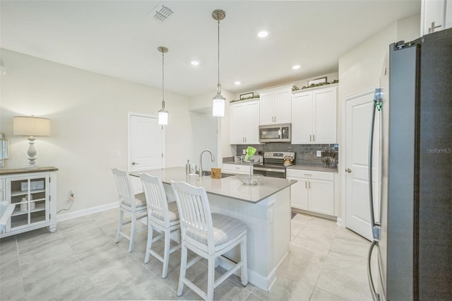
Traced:
<path id="1" fill-rule="evenodd" d="M 287 169 L 287 179 L 297 181 L 290 187 L 293 208 L 335 216 L 333 172 Z"/>

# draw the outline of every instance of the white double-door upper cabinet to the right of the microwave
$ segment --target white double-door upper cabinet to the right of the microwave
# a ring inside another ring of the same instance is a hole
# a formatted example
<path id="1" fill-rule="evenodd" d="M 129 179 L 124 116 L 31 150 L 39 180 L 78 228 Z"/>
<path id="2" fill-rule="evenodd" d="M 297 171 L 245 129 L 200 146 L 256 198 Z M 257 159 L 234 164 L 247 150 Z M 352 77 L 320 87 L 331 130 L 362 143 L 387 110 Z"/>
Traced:
<path id="1" fill-rule="evenodd" d="M 336 143 L 337 85 L 292 95 L 292 144 Z"/>

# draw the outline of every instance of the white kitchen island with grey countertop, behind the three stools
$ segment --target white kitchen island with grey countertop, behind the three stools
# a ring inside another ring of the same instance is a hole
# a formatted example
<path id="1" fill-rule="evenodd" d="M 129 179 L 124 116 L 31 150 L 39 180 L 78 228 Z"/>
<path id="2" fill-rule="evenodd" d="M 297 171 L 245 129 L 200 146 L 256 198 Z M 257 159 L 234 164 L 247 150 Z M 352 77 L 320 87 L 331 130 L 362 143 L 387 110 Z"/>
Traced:
<path id="1" fill-rule="evenodd" d="M 160 177 L 168 199 L 174 199 L 171 181 L 184 181 L 204 187 L 208 194 L 210 211 L 241 220 L 248 226 L 247 256 L 249 282 L 269 290 L 276 280 L 276 268 L 288 252 L 290 242 L 290 185 L 296 181 L 263 177 L 256 186 L 246 186 L 236 175 L 213 179 L 210 176 L 185 175 L 184 167 L 141 170 L 140 173 Z M 239 248 L 225 254 L 237 261 Z M 220 261 L 220 266 L 230 268 Z"/>

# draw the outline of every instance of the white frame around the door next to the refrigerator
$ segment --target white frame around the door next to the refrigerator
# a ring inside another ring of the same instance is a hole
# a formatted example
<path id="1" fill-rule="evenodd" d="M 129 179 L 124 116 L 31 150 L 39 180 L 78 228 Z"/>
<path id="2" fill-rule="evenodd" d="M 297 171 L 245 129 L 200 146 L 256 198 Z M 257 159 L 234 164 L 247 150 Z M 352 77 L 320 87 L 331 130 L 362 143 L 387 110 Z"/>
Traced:
<path id="1" fill-rule="evenodd" d="M 338 170 L 341 181 L 340 181 L 340 187 L 341 187 L 341 191 L 340 191 L 340 199 L 341 199 L 341 210 L 342 210 L 342 216 L 341 218 L 338 218 L 338 225 L 340 225 L 341 227 L 347 228 L 347 174 L 345 173 L 345 167 L 347 167 L 347 155 L 345 153 L 345 146 L 347 145 L 347 101 L 349 100 L 353 100 L 355 98 L 359 98 L 361 96 L 364 95 L 368 95 L 369 93 L 374 93 L 375 89 L 379 88 L 378 85 L 375 85 L 374 87 L 371 88 L 367 88 L 365 90 L 361 90 L 360 92 L 357 93 L 353 93 L 350 95 L 347 95 L 343 98 L 343 118 L 341 121 L 341 126 L 343 129 L 343 135 L 340 139 L 340 145 L 343 146 L 344 151 L 340 151 L 340 161 L 339 162 L 343 162 L 342 164 L 340 164 L 340 170 Z M 381 114 L 379 114 L 379 116 L 381 116 Z M 383 162 L 383 152 L 381 151 L 381 138 L 382 138 L 382 134 L 381 134 L 381 126 L 382 126 L 382 119 L 380 117 L 380 140 L 379 141 L 374 141 L 374 143 L 378 142 L 379 143 L 379 153 L 378 153 L 378 158 L 379 158 L 379 177 L 378 177 L 378 185 L 376 185 L 376 187 L 378 187 L 379 191 L 379 195 L 381 198 L 381 164 Z M 370 129 L 369 129 L 370 130 Z"/>

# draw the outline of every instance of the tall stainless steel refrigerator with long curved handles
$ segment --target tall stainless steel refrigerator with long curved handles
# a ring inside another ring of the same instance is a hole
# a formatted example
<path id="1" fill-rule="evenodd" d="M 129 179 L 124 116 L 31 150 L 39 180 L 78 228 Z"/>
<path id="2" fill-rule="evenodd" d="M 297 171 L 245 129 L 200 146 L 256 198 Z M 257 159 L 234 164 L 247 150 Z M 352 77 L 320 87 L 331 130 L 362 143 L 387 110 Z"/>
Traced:
<path id="1" fill-rule="evenodd" d="M 382 196 L 370 197 L 371 294 L 452 300 L 452 28 L 389 48 L 389 98 L 377 89 L 372 114 L 384 129 Z"/>

